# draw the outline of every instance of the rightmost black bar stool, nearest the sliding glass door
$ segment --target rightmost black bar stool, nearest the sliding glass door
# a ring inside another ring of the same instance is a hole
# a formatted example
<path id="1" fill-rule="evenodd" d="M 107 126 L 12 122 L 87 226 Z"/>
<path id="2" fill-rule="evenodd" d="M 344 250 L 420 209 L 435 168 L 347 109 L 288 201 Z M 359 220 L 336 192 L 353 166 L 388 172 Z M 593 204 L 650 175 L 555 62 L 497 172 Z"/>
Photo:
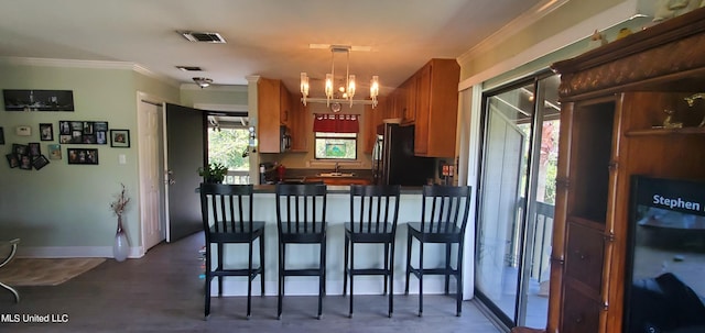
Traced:
<path id="1" fill-rule="evenodd" d="M 448 295 L 451 276 L 457 282 L 456 315 L 460 315 L 463 302 L 463 243 L 465 226 L 470 209 L 470 188 L 449 186 L 424 186 L 422 192 L 421 222 L 410 222 L 406 237 L 406 287 L 413 274 L 419 278 L 419 317 L 423 314 L 423 277 L 424 275 L 445 276 L 445 293 Z M 411 245 L 419 241 L 419 267 L 411 266 Z M 445 244 L 445 267 L 424 268 L 423 249 L 426 243 Z M 457 244 L 456 268 L 451 266 L 451 248 Z"/>

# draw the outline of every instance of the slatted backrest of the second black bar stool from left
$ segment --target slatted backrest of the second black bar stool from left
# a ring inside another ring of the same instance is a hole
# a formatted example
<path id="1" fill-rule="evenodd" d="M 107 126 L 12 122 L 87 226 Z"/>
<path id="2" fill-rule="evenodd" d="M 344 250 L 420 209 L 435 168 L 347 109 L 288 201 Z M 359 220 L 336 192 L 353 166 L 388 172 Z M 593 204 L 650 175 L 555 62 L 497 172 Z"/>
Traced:
<path id="1" fill-rule="evenodd" d="M 279 232 L 326 232 L 326 195 L 322 184 L 278 184 L 276 221 Z"/>

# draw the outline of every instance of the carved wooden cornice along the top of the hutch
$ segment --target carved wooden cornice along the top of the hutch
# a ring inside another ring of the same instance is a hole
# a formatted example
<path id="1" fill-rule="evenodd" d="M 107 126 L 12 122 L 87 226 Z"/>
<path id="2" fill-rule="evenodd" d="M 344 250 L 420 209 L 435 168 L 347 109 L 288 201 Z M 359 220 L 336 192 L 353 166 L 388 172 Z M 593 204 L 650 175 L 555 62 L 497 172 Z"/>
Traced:
<path id="1" fill-rule="evenodd" d="M 705 67 L 705 8 L 551 66 L 562 98 Z"/>

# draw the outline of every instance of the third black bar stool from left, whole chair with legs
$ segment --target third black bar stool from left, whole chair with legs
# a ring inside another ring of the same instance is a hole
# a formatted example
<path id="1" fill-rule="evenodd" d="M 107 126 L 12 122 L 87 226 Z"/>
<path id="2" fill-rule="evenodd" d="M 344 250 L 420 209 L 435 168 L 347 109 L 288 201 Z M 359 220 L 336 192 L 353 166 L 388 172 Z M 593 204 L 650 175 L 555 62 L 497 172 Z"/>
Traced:
<path id="1" fill-rule="evenodd" d="M 352 317 L 354 277 L 381 275 L 384 277 L 384 295 L 389 290 L 389 317 L 393 312 L 394 236 L 399 217 L 400 186 L 350 186 L 350 222 L 345 223 L 345 266 L 343 295 L 347 292 L 350 277 L 350 318 Z M 355 244 L 384 245 L 383 268 L 355 268 Z M 349 248 L 349 251 L 348 251 Z M 348 253 L 350 254 L 348 257 Z"/>

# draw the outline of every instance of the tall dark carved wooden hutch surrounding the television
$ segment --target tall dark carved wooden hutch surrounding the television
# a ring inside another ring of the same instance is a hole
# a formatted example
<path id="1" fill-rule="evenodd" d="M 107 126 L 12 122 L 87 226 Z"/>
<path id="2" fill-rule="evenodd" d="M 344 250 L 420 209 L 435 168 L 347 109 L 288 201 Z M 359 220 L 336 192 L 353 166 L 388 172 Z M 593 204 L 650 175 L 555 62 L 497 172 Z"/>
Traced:
<path id="1" fill-rule="evenodd" d="M 630 177 L 705 179 L 705 9 L 558 62 L 547 332 L 622 332 Z M 664 110 L 674 111 L 673 127 Z M 520 331 L 520 330 L 518 330 Z"/>

